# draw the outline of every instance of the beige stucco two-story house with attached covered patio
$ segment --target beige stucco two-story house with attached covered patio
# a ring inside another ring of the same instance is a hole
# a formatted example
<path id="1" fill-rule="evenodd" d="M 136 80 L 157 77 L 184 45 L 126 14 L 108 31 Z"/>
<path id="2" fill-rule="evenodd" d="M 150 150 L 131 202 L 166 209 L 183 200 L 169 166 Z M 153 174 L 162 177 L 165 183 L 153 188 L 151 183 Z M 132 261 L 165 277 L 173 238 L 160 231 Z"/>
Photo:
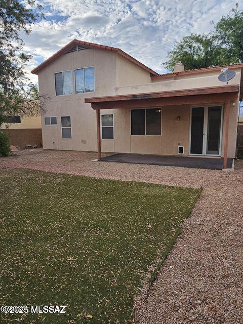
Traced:
<path id="1" fill-rule="evenodd" d="M 243 64 L 159 75 L 113 47 L 74 39 L 32 70 L 51 96 L 46 149 L 235 157 Z M 93 109 L 92 109 L 93 108 Z"/>

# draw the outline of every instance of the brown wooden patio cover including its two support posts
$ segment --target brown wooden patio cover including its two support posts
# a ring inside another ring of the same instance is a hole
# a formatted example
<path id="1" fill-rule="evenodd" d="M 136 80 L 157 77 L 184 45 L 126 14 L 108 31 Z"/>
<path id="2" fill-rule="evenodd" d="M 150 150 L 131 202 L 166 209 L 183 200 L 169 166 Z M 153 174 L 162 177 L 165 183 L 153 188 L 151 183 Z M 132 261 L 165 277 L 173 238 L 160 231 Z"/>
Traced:
<path id="1" fill-rule="evenodd" d="M 208 87 L 196 89 L 173 90 L 163 92 L 151 92 L 107 97 L 85 98 L 85 103 L 91 103 L 96 110 L 97 124 L 97 148 L 98 160 L 101 159 L 101 129 L 100 109 L 129 109 L 144 107 L 162 107 L 185 104 L 212 104 L 224 103 L 224 148 L 223 148 L 223 169 L 227 168 L 229 114 L 231 101 L 234 101 L 239 94 L 238 85 L 221 87 Z"/>

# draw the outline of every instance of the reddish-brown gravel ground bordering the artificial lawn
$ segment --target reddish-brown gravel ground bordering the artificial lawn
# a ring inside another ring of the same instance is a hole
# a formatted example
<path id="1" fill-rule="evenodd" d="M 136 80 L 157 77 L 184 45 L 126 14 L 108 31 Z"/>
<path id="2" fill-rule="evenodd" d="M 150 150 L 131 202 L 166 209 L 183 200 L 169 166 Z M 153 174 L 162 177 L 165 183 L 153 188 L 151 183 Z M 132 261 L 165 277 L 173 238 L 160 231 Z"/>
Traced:
<path id="1" fill-rule="evenodd" d="M 138 324 L 243 323 L 243 160 L 234 172 L 92 161 L 96 153 L 22 150 L 0 168 L 32 168 L 117 180 L 201 187 L 191 216 L 147 292 Z"/>

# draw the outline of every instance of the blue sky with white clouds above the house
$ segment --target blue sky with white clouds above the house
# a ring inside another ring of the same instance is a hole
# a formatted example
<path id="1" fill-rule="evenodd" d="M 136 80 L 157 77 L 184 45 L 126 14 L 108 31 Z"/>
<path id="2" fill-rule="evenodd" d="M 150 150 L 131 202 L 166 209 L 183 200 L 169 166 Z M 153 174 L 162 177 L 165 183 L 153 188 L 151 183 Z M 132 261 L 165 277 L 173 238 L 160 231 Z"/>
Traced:
<path id="1" fill-rule="evenodd" d="M 73 38 L 118 47 L 159 73 L 175 41 L 209 32 L 235 3 L 243 0 L 39 0 L 46 19 L 24 37 L 33 55 L 28 70 Z M 35 75 L 29 74 L 32 82 Z"/>

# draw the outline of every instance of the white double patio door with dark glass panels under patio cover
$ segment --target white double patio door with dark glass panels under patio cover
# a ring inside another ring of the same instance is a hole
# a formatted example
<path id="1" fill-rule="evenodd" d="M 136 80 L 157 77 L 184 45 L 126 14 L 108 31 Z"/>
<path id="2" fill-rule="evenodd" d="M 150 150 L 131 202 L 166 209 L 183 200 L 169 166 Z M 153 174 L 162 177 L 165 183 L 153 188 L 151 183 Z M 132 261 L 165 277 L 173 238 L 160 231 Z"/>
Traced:
<path id="1" fill-rule="evenodd" d="M 190 154 L 221 154 L 222 105 L 191 107 Z"/>

